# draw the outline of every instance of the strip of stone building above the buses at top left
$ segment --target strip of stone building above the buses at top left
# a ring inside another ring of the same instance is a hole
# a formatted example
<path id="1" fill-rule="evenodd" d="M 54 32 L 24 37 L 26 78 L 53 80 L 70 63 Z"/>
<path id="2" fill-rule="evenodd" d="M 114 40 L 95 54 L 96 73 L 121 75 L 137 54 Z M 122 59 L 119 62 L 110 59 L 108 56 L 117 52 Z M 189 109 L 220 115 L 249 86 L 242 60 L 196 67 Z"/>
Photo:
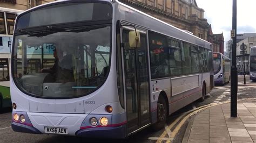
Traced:
<path id="1" fill-rule="evenodd" d="M 0 0 L 0 7 L 16 10 L 28 10 L 34 6 L 53 1 L 55 0 Z"/>

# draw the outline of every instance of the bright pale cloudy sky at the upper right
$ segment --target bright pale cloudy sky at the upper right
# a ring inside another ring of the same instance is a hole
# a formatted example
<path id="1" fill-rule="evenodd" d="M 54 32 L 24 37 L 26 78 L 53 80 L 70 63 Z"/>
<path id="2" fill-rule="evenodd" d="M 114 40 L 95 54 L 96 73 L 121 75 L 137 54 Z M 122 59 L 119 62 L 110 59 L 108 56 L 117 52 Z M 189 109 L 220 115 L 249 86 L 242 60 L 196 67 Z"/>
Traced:
<path id="1" fill-rule="evenodd" d="M 224 51 L 232 30 L 233 0 L 196 0 L 204 9 L 204 18 L 212 26 L 213 34 L 223 32 Z M 256 33 L 256 0 L 237 0 L 237 34 Z"/>

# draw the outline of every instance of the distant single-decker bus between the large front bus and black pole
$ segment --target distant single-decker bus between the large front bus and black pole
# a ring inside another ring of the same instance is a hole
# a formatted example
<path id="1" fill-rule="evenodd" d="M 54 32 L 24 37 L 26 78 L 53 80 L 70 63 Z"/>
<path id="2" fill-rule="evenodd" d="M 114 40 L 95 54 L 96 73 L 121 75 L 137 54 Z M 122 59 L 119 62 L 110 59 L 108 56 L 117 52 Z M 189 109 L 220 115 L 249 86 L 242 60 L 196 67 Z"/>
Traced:
<path id="1" fill-rule="evenodd" d="M 230 82 L 231 61 L 222 53 L 213 53 L 214 83 L 224 85 Z"/>

